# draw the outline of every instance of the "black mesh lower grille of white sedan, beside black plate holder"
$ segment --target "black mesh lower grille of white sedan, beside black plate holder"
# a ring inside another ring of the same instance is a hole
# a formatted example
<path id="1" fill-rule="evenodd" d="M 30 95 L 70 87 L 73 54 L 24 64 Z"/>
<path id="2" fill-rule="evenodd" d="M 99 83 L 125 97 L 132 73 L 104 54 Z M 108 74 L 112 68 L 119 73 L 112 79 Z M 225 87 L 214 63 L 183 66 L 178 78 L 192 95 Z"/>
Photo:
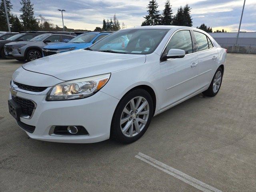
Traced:
<path id="1" fill-rule="evenodd" d="M 12 96 L 12 100 L 17 103 L 18 105 L 20 105 L 21 107 L 21 111 L 22 114 L 25 116 L 31 116 L 33 113 L 33 110 L 35 108 L 35 104 L 28 99 L 24 99 L 21 97 L 13 97 Z"/>

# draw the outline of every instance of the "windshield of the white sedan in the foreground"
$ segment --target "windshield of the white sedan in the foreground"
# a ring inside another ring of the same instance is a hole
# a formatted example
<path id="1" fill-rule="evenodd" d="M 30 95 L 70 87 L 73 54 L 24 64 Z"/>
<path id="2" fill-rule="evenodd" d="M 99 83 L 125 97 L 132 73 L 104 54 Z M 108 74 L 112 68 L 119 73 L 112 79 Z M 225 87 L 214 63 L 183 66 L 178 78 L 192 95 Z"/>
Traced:
<path id="1" fill-rule="evenodd" d="M 112 33 L 90 47 L 92 51 L 126 54 L 154 52 L 169 29 L 127 29 Z"/>

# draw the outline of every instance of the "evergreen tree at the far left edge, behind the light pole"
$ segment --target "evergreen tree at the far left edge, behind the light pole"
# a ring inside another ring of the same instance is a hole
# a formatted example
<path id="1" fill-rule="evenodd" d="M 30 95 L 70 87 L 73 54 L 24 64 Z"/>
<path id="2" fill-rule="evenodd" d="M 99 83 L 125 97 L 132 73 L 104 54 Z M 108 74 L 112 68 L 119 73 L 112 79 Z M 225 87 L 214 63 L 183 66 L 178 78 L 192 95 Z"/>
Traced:
<path id="1" fill-rule="evenodd" d="M 6 14 L 5 14 L 5 10 L 4 10 L 4 1 L 0 0 L 0 31 L 8 31 L 8 26 L 7 26 L 7 21 L 6 21 Z M 7 13 L 8 13 L 8 17 L 9 17 L 9 22 L 12 19 L 12 4 L 10 2 L 10 0 L 6 0 L 6 9 L 7 9 Z M 12 24 L 10 22 L 10 24 Z"/>

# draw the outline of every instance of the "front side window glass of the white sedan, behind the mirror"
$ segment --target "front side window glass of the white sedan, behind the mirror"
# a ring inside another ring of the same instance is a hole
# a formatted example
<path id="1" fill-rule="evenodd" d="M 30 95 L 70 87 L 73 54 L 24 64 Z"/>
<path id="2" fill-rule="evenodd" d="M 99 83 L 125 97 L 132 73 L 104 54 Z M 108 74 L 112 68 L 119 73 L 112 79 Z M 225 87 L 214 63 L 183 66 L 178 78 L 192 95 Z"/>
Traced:
<path id="1" fill-rule="evenodd" d="M 170 49 L 181 49 L 185 54 L 193 52 L 192 38 L 189 30 L 182 30 L 176 32 L 169 41 L 163 55 L 167 55 Z"/>

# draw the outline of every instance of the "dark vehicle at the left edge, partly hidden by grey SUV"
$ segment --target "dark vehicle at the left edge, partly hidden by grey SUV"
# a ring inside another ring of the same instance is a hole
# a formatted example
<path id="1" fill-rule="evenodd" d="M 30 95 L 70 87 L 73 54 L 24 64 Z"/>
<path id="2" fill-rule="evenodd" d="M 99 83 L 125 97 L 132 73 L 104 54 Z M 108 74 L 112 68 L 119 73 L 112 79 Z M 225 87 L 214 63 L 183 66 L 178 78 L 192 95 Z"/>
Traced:
<path id="1" fill-rule="evenodd" d="M 20 33 L 20 34 L 16 34 L 14 36 L 9 37 L 6 40 L 0 40 L 0 55 L 2 58 L 6 58 L 6 55 L 4 54 L 4 45 L 6 43 L 10 43 L 10 42 L 19 42 L 19 44 L 21 44 L 21 42 L 23 41 L 29 41 L 30 39 L 34 38 L 35 36 L 40 35 L 40 33 Z M 7 50 L 7 52 L 10 52 L 11 50 Z"/>

